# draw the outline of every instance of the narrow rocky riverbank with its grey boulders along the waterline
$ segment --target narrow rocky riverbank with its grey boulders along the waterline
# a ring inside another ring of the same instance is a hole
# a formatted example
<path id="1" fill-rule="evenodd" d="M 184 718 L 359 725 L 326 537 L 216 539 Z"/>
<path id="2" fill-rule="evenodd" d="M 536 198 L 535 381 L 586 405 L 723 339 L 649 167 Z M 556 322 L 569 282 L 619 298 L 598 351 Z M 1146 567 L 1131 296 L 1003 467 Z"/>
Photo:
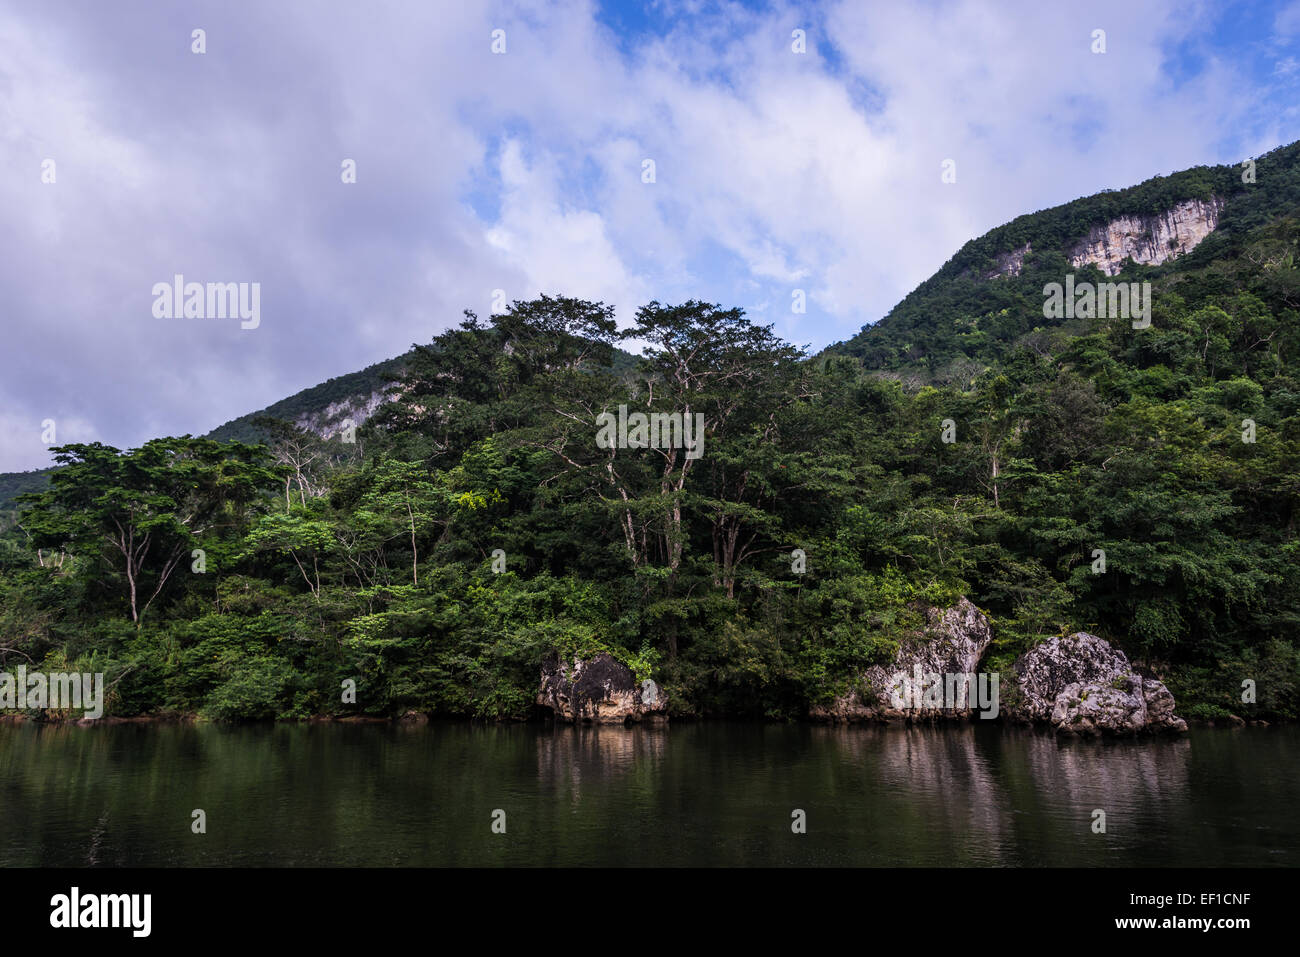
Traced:
<path id="1" fill-rule="evenodd" d="M 902 640 L 892 661 L 867 668 L 837 696 L 810 702 L 798 718 L 822 724 L 916 726 L 997 723 L 1050 728 L 1066 737 L 1135 737 L 1179 735 L 1188 720 L 1175 714 L 1176 702 L 1165 683 L 1148 668 L 1135 667 L 1122 650 L 1087 632 L 1046 638 L 1020 654 L 1010 667 L 991 670 L 993 628 L 988 616 L 966 598 L 950 607 L 916 610 L 922 624 Z M 343 706 L 355 703 L 355 684 L 343 683 Z M 659 681 L 608 651 L 566 658 L 543 657 L 530 713 L 495 720 L 554 720 L 567 724 L 629 726 L 671 719 L 744 718 L 697 714 Z M 348 698 L 347 693 L 354 697 Z M 30 714 L 30 713 L 29 713 Z M 53 715 L 53 716 L 51 716 Z M 218 719 L 239 723 L 229 710 L 159 713 L 155 715 L 78 718 L 75 710 L 47 710 L 32 715 L 46 723 L 195 723 Z M 260 716 L 260 715 L 259 715 Z M 14 715 L 0 716 L 13 720 Z M 269 718 L 269 715 L 266 716 Z M 434 714 L 407 709 L 400 715 L 317 714 L 291 723 L 426 723 L 433 718 L 468 719 L 463 714 Z M 482 719 L 473 719 L 482 720 Z M 1204 727 L 1268 727 L 1270 719 L 1232 713 L 1192 718 Z"/>

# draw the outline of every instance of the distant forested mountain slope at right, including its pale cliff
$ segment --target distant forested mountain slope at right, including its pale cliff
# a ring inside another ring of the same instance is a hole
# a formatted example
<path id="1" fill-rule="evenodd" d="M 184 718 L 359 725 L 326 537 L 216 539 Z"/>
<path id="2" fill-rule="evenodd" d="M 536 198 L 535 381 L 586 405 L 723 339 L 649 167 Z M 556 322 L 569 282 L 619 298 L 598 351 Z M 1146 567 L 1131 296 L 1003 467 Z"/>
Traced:
<path id="1" fill-rule="evenodd" d="M 966 243 L 884 319 L 823 355 L 915 384 L 970 382 L 1019 345 L 1041 348 L 1065 325 L 1043 316 L 1046 283 L 1075 273 L 1171 289 L 1300 215 L 1300 143 L 1258 157 L 1253 183 L 1243 172 L 1196 166 L 1019 216 Z M 1213 293 L 1216 282 L 1201 276 L 1182 294 Z"/>

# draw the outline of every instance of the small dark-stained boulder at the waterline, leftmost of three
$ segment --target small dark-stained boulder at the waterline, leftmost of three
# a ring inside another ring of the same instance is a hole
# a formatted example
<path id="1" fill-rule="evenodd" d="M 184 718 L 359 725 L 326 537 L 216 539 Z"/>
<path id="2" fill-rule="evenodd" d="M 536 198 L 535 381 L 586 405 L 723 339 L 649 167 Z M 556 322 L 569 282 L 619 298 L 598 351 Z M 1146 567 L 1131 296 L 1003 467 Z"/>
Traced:
<path id="1" fill-rule="evenodd" d="M 647 679 L 637 687 L 632 670 L 604 651 L 572 663 L 558 655 L 542 662 L 537 703 L 569 723 L 625 724 L 668 711 L 668 696 L 658 684 Z"/>

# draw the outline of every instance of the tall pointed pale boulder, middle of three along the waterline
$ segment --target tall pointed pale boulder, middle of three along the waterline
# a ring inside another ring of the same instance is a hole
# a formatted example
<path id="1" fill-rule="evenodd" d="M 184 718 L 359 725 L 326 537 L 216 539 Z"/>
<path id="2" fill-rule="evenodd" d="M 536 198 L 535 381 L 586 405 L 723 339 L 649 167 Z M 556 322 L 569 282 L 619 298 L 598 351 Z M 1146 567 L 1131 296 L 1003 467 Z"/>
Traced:
<path id="1" fill-rule="evenodd" d="M 889 667 L 871 667 L 863 675 L 866 694 L 857 690 L 824 707 L 812 707 L 809 716 L 829 722 L 894 722 L 970 718 L 968 696 L 956 707 L 897 707 L 892 687 L 897 675 L 972 675 L 984 649 L 993 640 L 988 619 L 966 598 L 950 609 L 931 609 L 926 628 L 898 645 Z M 897 690 L 897 688 L 893 688 Z"/>

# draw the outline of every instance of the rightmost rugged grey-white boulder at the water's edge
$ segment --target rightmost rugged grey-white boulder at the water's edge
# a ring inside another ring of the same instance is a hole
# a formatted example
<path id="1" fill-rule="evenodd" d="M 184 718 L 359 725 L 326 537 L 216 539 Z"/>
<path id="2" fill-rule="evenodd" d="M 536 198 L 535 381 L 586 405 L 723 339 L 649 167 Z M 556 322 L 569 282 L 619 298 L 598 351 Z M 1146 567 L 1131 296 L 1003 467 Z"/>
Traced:
<path id="1" fill-rule="evenodd" d="M 1044 641 L 1015 662 L 1022 720 L 1067 735 L 1187 731 L 1162 681 L 1135 675 L 1124 653 L 1096 635 Z"/>

